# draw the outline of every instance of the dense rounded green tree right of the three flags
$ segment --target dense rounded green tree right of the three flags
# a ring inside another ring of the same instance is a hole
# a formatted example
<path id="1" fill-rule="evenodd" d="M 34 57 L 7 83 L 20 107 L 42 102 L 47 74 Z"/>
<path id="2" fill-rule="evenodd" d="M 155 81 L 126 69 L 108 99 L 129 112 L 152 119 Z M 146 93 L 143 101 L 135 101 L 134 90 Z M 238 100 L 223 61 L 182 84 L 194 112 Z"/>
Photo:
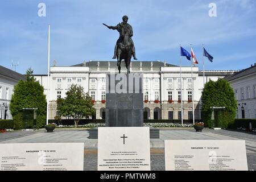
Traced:
<path id="1" fill-rule="evenodd" d="M 226 128 L 233 124 L 236 117 L 237 101 L 234 97 L 234 90 L 228 81 L 219 78 L 217 81 L 210 80 L 205 84 L 202 102 L 202 116 L 208 127 L 212 127 L 211 107 L 225 107 L 224 110 L 219 110 L 219 114 L 215 114 L 214 119 L 218 119 L 218 127 Z"/>

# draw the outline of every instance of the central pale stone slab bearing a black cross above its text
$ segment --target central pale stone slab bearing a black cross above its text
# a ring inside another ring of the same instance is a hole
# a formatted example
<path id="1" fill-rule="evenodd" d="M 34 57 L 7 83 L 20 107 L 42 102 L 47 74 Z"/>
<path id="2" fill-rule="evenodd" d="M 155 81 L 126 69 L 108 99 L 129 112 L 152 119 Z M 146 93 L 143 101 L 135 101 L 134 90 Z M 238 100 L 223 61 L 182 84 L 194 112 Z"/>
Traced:
<path id="1" fill-rule="evenodd" d="M 98 171 L 112 170 L 150 171 L 149 127 L 98 128 Z"/>

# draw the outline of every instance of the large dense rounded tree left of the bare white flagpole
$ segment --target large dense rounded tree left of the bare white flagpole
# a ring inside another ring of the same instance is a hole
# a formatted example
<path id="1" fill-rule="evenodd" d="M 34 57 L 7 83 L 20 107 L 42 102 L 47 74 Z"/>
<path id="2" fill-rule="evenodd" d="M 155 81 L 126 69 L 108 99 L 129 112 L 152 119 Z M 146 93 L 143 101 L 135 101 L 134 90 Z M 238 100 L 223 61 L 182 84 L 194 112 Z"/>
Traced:
<path id="1" fill-rule="evenodd" d="M 26 81 L 20 80 L 14 86 L 14 94 L 11 97 L 10 110 L 14 118 L 15 129 L 22 128 L 23 108 L 38 108 L 36 110 L 36 127 L 39 129 L 46 123 L 46 96 L 44 88 L 35 80 L 33 70 L 27 69 Z"/>

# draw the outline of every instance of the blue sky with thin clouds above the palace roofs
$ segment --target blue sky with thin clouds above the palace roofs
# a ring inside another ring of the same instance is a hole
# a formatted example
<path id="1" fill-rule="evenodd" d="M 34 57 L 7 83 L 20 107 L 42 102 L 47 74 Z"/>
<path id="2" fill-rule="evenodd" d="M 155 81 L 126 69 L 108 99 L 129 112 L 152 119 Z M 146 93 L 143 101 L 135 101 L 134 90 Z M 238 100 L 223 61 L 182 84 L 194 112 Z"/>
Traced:
<path id="1" fill-rule="evenodd" d="M 38 4 L 46 4 L 46 17 L 38 16 Z M 209 3 L 216 3 L 217 17 L 210 17 Z M 31 67 L 47 74 L 48 24 L 51 24 L 51 65 L 112 60 L 118 32 L 115 26 L 129 16 L 139 61 L 167 60 L 179 65 L 179 44 L 190 44 L 203 69 L 202 47 L 214 57 L 205 58 L 207 70 L 237 70 L 256 63 L 256 1 L 86 1 L 1 0 L 0 65 L 16 71 Z M 182 58 L 182 65 L 190 62 Z"/>

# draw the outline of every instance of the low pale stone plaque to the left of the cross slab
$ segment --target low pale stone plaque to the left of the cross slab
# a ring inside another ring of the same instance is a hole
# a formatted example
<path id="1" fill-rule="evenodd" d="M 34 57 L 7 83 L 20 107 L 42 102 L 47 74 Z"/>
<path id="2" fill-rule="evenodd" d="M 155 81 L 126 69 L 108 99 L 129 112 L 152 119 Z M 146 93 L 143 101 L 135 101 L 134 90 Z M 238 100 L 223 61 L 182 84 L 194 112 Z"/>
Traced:
<path id="1" fill-rule="evenodd" d="M 82 171 L 84 143 L 0 144 L 0 171 Z"/>

